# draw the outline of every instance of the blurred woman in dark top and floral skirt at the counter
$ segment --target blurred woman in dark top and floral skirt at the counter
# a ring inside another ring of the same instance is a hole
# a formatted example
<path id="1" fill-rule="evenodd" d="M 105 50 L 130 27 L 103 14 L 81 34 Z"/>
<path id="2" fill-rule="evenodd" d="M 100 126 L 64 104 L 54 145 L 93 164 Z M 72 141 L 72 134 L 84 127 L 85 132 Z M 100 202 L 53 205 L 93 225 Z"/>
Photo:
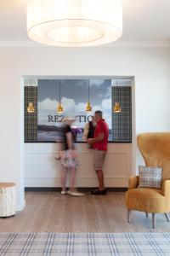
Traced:
<path id="1" fill-rule="evenodd" d="M 77 151 L 74 145 L 74 135 L 71 131 L 71 125 L 75 122 L 75 117 L 66 116 L 63 119 L 65 123 L 64 135 L 65 135 L 65 150 L 61 151 L 61 165 L 63 166 L 61 174 L 61 185 L 62 191 L 61 195 L 75 195 L 81 196 L 82 193 L 77 192 L 75 189 L 75 177 L 76 177 L 76 167 L 77 167 Z M 70 172 L 70 189 L 66 191 L 65 183 L 68 172 Z"/>

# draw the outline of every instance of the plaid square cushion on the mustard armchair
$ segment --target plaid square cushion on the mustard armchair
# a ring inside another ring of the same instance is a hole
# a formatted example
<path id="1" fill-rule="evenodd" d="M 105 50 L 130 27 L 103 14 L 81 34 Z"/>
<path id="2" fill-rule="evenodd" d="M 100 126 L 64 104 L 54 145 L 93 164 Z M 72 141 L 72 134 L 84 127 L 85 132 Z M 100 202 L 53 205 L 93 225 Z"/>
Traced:
<path id="1" fill-rule="evenodd" d="M 161 189 L 161 172 L 159 166 L 139 166 L 139 188 Z"/>

